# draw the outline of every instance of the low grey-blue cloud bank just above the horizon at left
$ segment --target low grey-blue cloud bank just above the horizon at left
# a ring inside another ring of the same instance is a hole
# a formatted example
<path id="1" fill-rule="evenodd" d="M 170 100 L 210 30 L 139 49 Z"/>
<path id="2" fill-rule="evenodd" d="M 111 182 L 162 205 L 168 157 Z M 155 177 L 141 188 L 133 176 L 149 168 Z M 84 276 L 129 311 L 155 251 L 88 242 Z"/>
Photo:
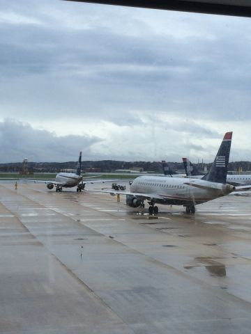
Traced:
<path id="1" fill-rule="evenodd" d="M 80 150 L 84 159 L 95 158 L 90 146 L 99 139 L 87 136 L 56 136 L 33 129 L 29 124 L 6 119 L 0 122 L 1 162 L 22 161 L 74 161 Z"/>

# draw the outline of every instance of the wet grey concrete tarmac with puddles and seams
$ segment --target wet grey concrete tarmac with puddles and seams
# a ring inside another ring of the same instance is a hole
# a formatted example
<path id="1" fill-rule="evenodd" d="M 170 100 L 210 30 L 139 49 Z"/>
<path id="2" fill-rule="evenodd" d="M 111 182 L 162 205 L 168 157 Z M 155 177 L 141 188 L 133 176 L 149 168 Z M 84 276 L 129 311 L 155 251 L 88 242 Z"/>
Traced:
<path id="1" fill-rule="evenodd" d="M 44 184 L 0 199 L 1 333 L 251 332 L 250 197 L 195 216 Z"/>

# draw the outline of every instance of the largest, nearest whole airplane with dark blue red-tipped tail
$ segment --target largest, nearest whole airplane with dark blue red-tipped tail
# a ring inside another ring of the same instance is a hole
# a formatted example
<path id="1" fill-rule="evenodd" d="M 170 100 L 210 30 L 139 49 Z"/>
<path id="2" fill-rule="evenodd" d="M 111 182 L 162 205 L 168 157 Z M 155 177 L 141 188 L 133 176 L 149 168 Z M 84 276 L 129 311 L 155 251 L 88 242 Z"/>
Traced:
<path id="1" fill-rule="evenodd" d="M 236 189 L 245 189 L 245 186 L 226 184 L 231 137 L 232 132 L 225 134 L 205 180 L 145 175 L 132 181 L 130 191 L 88 191 L 110 193 L 112 196 L 126 195 L 129 207 L 144 207 L 144 200 L 148 200 L 149 214 L 158 214 L 156 203 L 183 205 L 187 214 L 195 214 L 195 205 L 226 196 Z"/>

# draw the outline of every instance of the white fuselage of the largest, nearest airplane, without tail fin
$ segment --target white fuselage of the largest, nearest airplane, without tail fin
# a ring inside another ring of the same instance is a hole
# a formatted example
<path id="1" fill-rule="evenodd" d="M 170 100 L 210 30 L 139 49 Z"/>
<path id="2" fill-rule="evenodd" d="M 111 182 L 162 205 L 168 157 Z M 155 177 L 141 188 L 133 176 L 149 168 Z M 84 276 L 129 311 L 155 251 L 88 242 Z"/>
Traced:
<path id="1" fill-rule="evenodd" d="M 133 193 L 155 193 L 162 196 L 164 200 L 155 199 L 162 204 L 187 205 L 199 204 L 213 200 L 231 193 L 234 187 L 229 184 L 197 180 L 197 186 L 192 184 L 192 179 L 165 176 L 140 176 L 130 186 Z M 201 186 L 201 188 L 199 188 Z M 203 188 L 202 188 L 203 187 Z M 208 187 L 208 189 L 206 189 Z M 210 189 L 209 189 L 210 187 Z M 137 196 L 138 197 L 138 196 Z"/>

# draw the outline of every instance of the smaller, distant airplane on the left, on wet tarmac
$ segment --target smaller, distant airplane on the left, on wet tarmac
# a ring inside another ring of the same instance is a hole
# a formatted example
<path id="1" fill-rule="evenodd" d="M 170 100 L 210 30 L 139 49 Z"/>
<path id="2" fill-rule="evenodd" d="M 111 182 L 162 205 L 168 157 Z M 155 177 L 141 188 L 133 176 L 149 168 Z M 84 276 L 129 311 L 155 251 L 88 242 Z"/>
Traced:
<path id="1" fill-rule="evenodd" d="M 82 152 L 79 152 L 79 159 L 77 163 L 77 168 L 75 173 L 58 173 L 56 175 L 55 180 L 53 181 L 43 181 L 43 180 L 24 180 L 28 182 L 43 182 L 47 184 L 48 189 L 53 189 L 54 186 L 56 186 L 56 192 L 63 191 L 63 188 L 73 188 L 73 186 L 77 186 L 77 192 L 81 192 L 84 190 L 85 184 L 86 183 L 95 183 L 95 182 L 105 182 L 103 180 L 86 180 L 83 181 L 84 179 L 87 179 L 89 177 L 82 177 L 81 176 L 81 163 L 82 163 Z M 96 177 L 96 176 L 95 176 Z"/>

